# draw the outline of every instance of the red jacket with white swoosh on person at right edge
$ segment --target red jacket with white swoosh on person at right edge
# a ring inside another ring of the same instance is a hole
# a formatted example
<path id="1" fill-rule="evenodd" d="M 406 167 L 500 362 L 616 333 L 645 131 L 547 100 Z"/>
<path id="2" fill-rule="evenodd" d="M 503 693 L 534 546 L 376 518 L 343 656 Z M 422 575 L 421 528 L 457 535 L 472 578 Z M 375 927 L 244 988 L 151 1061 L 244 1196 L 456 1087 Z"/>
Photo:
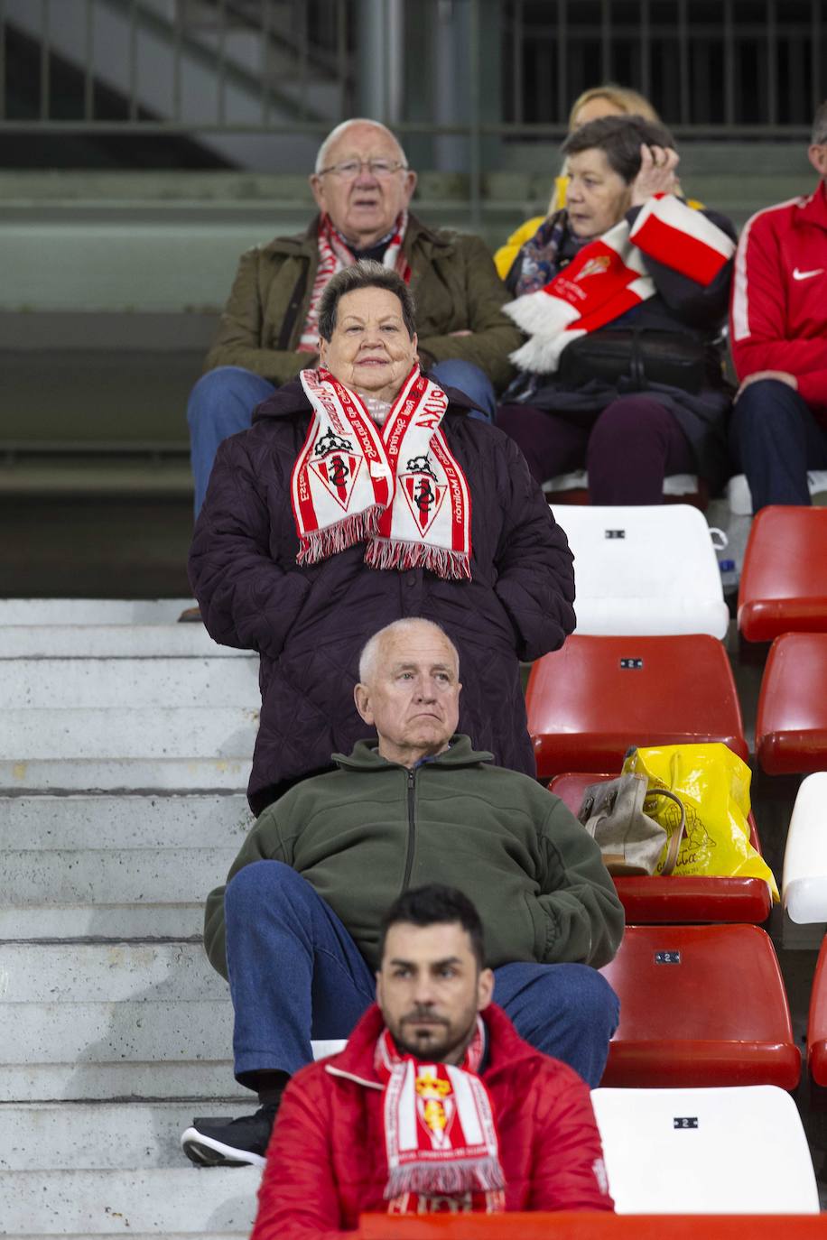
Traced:
<path id="1" fill-rule="evenodd" d="M 748 221 L 735 255 L 730 343 L 739 379 L 787 371 L 827 422 L 827 186 Z"/>

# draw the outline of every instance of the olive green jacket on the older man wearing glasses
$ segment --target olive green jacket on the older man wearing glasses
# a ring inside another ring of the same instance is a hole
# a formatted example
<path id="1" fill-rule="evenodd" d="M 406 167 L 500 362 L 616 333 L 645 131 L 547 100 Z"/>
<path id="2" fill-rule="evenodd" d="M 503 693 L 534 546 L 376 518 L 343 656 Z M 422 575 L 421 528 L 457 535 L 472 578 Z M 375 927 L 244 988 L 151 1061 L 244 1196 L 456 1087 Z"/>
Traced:
<path id="1" fill-rule="evenodd" d="M 243 366 L 280 386 L 314 363 L 296 348 L 319 264 L 317 227 L 319 216 L 306 233 L 242 254 L 205 370 Z M 522 334 L 502 314 L 510 295 L 485 244 L 479 237 L 431 232 L 409 216 L 402 248 L 412 270 L 419 347 L 435 362 L 474 362 L 503 388 L 512 374 L 508 353 Z"/>

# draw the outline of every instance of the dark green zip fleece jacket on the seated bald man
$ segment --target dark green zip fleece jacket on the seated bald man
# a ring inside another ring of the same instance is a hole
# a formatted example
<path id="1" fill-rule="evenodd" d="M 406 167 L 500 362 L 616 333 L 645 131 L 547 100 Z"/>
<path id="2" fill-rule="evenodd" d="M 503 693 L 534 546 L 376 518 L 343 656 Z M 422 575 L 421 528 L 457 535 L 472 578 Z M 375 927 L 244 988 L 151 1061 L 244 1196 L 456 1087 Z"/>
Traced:
<path id="1" fill-rule="evenodd" d="M 377 967 L 379 924 L 408 887 L 446 883 L 476 904 L 487 962 L 600 967 L 624 909 L 600 849 L 569 808 L 517 771 L 491 765 L 467 737 L 413 770 L 360 742 L 337 770 L 296 784 L 262 813 L 227 875 L 280 861 L 327 901 Z M 207 899 L 205 944 L 227 976 L 224 888 Z"/>

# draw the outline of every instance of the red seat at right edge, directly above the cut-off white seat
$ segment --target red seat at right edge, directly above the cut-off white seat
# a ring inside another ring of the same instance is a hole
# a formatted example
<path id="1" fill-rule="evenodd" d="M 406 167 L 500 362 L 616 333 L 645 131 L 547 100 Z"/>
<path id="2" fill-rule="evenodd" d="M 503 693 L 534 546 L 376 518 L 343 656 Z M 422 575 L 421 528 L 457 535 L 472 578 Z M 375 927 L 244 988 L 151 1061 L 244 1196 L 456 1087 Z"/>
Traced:
<path id="1" fill-rule="evenodd" d="M 827 632 L 785 632 L 772 642 L 755 753 L 767 775 L 827 770 Z"/>

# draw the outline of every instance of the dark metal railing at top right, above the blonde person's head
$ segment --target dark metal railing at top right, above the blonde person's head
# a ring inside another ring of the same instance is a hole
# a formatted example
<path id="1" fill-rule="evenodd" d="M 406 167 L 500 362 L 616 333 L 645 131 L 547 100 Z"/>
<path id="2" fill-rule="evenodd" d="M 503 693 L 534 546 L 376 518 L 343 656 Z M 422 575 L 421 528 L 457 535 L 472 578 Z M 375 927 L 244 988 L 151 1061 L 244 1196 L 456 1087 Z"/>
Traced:
<path id="1" fill-rule="evenodd" d="M 565 125 L 586 87 L 650 98 L 677 133 L 786 134 L 827 93 L 823 0 L 510 0 L 505 112 Z"/>

